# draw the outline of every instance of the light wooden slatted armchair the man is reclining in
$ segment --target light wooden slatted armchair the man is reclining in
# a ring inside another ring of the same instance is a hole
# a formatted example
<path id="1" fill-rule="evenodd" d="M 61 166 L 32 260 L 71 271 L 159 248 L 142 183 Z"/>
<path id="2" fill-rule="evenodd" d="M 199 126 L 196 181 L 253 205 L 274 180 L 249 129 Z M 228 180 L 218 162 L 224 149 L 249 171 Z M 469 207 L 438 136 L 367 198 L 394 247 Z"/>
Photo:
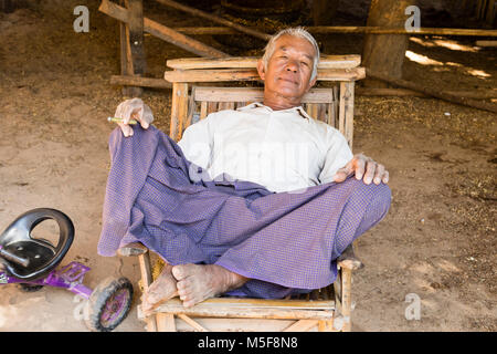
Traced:
<path id="1" fill-rule="evenodd" d="M 260 80 L 256 61 L 255 58 L 169 60 L 167 65 L 172 71 L 166 71 L 165 79 L 172 83 L 170 136 L 179 140 L 190 124 L 211 112 L 261 102 L 262 87 L 240 87 L 240 83 Z M 359 55 L 321 58 L 318 81 L 331 84 L 310 90 L 303 100 L 306 112 L 338 128 L 350 147 L 355 82 L 364 77 L 364 69 L 359 64 Z M 221 82 L 224 86 L 212 86 L 212 83 Z M 234 87 L 234 82 L 239 86 Z M 138 256 L 142 288 L 148 289 L 152 282 L 148 250 L 141 244 L 128 244 L 119 249 L 119 254 Z M 138 316 L 147 322 L 148 331 L 350 331 L 351 272 L 360 267 L 362 263 L 350 246 L 338 259 L 335 283 L 309 294 L 283 300 L 221 296 L 190 309 L 184 309 L 176 298 L 149 313 L 142 313 L 138 306 Z"/>

